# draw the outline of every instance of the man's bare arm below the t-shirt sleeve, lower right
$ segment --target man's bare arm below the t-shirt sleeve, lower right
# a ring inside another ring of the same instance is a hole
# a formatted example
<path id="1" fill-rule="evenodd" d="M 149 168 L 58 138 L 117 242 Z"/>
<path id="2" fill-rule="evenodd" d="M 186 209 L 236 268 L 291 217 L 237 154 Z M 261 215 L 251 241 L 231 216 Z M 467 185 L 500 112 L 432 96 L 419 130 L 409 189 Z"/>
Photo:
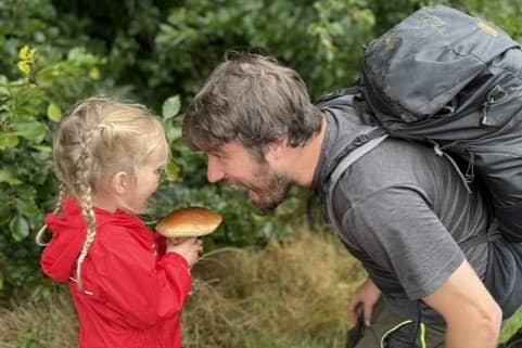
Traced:
<path id="1" fill-rule="evenodd" d="M 468 261 L 423 300 L 446 320 L 446 348 L 497 347 L 502 312 Z"/>

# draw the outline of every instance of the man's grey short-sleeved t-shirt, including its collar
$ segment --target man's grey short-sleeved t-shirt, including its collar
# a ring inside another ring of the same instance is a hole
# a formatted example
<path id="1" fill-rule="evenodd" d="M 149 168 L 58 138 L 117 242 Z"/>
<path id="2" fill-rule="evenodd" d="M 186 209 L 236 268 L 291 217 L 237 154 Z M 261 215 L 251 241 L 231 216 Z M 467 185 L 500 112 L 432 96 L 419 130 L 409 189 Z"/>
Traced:
<path id="1" fill-rule="evenodd" d="M 353 109 L 323 109 L 329 126 L 314 186 L 320 191 L 342 149 L 365 127 Z M 484 280 L 488 244 L 461 250 L 487 232 L 491 211 L 480 190 L 468 193 L 456 169 L 433 149 L 387 139 L 341 177 L 333 195 L 340 237 L 361 260 L 399 314 L 416 318 L 418 299 L 436 292 L 468 259 Z M 424 322 L 442 322 L 422 306 Z"/>

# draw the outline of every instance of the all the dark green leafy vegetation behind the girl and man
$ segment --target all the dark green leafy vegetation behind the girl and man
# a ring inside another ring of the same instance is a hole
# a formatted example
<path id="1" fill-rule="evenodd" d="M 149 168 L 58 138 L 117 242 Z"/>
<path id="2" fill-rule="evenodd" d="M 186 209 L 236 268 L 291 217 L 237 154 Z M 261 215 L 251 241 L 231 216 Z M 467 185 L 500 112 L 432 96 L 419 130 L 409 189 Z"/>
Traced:
<path id="1" fill-rule="evenodd" d="M 174 159 L 148 219 L 203 205 L 226 221 L 208 247 L 263 246 L 292 233 L 309 194 L 296 191 L 277 214 L 259 216 L 243 193 L 206 183 L 205 158 L 184 146 L 176 116 L 230 49 L 272 54 L 302 74 L 314 100 L 352 86 L 365 43 L 431 3 L 522 39 L 515 0 L 0 0 L 0 300 L 49 289 L 34 237 L 54 207 L 53 132 L 76 101 L 117 95 L 163 117 Z"/>

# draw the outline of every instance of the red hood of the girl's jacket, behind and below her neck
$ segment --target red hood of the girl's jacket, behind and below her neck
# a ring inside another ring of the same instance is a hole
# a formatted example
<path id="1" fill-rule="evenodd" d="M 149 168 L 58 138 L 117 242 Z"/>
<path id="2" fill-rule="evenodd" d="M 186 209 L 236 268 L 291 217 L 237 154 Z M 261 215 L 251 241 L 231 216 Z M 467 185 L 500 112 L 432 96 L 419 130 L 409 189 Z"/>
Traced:
<path id="1" fill-rule="evenodd" d="M 68 282 L 76 268 L 76 261 L 87 234 L 87 221 L 80 205 L 74 198 L 68 198 L 63 216 L 50 214 L 47 225 L 53 236 L 43 250 L 41 267 L 43 272 L 56 282 Z M 135 216 L 123 211 L 110 212 L 94 208 L 97 228 L 105 223 L 125 227 L 142 227 L 143 223 Z"/>

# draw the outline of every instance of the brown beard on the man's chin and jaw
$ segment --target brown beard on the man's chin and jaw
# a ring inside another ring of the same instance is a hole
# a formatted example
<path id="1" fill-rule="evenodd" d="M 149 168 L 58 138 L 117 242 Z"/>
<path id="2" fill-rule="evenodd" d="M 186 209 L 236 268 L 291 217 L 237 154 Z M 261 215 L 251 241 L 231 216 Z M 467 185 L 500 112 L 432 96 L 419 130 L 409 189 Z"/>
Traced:
<path id="1" fill-rule="evenodd" d="M 263 181 L 258 185 L 250 188 L 258 197 L 257 201 L 252 199 L 252 202 L 262 214 L 268 214 L 287 199 L 292 181 L 288 177 L 275 173 L 269 169 L 260 169 L 257 178 Z"/>

